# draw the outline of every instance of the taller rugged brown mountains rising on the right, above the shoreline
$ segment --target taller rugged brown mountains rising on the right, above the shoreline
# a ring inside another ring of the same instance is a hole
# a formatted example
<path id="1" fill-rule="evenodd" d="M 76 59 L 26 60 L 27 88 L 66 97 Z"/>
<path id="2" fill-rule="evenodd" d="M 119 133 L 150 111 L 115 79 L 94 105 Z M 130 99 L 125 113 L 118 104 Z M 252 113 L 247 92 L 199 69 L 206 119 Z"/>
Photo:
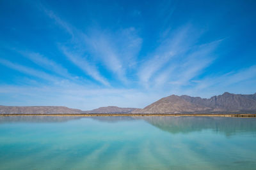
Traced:
<path id="1" fill-rule="evenodd" d="M 191 96 L 168 96 L 132 113 L 193 113 L 193 112 L 252 112 L 256 111 L 256 93 L 251 95 L 225 92 L 210 99 Z"/>

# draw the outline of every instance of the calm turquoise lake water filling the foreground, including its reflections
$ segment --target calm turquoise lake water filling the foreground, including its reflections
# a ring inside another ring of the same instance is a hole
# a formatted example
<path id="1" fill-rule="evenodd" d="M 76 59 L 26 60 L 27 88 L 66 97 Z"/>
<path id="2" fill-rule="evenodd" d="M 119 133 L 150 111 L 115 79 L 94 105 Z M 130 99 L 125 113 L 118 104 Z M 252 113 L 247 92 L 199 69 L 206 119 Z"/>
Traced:
<path id="1" fill-rule="evenodd" d="M 0 169 L 256 169 L 256 118 L 0 117 Z"/>

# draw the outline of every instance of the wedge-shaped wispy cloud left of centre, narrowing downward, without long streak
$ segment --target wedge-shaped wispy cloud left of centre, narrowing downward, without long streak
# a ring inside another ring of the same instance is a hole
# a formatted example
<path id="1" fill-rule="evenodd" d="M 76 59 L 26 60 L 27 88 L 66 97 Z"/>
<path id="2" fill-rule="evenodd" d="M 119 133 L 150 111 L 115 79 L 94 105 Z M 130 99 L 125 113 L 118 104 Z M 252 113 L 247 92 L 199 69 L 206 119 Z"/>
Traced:
<path id="1" fill-rule="evenodd" d="M 127 83 L 127 69 L 136 64 L 142 43 L 133 27 L 112 34 L 108 31 L 93 30 L 86 36 L 85 42 L 90 53 L 102 60 L 119 80 Z"/>

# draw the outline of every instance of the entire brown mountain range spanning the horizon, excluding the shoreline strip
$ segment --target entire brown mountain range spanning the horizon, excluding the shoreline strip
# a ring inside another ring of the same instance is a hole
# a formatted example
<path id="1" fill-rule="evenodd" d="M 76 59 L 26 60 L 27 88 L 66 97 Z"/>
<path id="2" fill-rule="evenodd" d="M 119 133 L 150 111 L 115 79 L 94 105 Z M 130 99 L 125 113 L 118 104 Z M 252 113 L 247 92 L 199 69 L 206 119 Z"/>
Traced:
<path id="1" fill-rule="evenodd" d="M 79 114 L 79 113 L 255 113 L 256 93 L 249 95 L 230 94 L 225 92 L 209 99 L 191 96 L 168 96 L 148 105 L 143 109 L 101 107 L 95 110 L 82 111 L 64 106 L 0 106 L 0 114 Z"/>

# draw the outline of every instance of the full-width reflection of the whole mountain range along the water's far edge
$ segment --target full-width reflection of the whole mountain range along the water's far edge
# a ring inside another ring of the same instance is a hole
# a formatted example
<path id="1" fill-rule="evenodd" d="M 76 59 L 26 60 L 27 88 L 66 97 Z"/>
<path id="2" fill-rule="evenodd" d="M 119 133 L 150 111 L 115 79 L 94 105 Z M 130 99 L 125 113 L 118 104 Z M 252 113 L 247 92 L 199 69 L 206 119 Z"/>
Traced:
<path id="1" fill-rule="evenodd" d="M 236 133 L 256 132 L 256 118 L 224 118 L 224 117 L 0 117 L 0 124 L 10 122 L 68 122 L 81 118 L 91 118 L 99 122 L 110 124 L 124 121 L 144 120 L 148 124 L 162 131 L 177 133 L 189 133 L 211 129 L 214 132 L 231 136 Z"/>

